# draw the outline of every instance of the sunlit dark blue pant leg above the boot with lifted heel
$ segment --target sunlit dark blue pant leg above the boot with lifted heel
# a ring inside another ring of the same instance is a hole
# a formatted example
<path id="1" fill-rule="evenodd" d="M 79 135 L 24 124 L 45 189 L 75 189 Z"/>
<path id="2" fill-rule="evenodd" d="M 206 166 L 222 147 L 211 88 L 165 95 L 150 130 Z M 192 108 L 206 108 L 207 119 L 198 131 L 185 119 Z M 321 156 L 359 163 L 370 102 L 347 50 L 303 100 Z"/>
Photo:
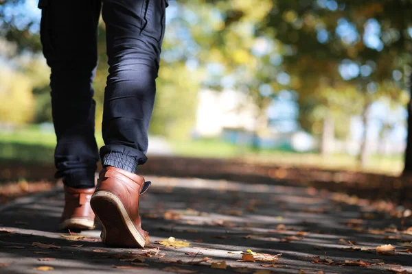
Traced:
<path id="1" fill-rule="evenodd" d="M 147 160 L 167 0 L 103 0 L 109 75 L 100 158 L 135 172 Z"/>

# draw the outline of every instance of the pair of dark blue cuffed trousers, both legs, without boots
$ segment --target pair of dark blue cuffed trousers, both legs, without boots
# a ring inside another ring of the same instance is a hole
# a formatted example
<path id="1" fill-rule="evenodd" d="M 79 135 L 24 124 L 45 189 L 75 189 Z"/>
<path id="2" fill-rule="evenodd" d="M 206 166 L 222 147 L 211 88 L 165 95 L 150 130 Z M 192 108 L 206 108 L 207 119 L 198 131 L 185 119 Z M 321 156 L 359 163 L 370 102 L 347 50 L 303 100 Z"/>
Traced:
<path id="1" fill-rule="evenodd" d="M 94 186 L 97 162 L 135 173 L 147 160 L 168 0 L 41 0 L 41 42 L 51 68 L 56 178 Z M 106 25 L 108 77 L 102 135 L 95 141 L 93 78 L 98 21 Z"/>

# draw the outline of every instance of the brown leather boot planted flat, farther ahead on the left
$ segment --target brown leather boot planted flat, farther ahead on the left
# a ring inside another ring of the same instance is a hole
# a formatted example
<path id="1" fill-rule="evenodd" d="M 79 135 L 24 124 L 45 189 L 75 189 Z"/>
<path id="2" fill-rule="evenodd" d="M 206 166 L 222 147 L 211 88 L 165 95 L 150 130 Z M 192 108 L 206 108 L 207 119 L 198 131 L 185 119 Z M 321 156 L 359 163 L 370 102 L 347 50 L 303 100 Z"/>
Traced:
<path id="1" fill-rule="evenodd" d="M 95 228 L 95 214 L 90 206 L 95 188 L 70 188 L 65 186 L 65 209 L 60 219 L 60 229 L 84 230 Z"/>

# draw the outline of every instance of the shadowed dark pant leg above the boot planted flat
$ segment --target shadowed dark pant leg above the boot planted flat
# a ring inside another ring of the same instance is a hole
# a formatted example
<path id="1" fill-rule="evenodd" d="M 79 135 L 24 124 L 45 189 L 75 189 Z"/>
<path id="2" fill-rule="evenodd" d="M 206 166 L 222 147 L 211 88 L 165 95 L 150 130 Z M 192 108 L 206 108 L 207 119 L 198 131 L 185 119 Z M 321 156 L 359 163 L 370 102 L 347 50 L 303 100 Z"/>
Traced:
<path id="1" fill-rule="evenodd" d="M 51 68 L 56 178 L 74 188 L 94 186 L 99 160 L 92 88 L 98 63 L 100 0 L 41 0 L 41 42 Z"/>

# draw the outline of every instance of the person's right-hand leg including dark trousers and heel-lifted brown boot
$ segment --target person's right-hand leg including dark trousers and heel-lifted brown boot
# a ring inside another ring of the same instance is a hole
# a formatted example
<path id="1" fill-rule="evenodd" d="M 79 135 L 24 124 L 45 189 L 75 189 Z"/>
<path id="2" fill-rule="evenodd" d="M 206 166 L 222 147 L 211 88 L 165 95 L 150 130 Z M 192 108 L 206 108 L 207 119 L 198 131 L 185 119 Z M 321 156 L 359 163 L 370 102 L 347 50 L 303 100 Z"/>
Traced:
<path id="1" fill-rule="evenodd" d="M 144 247 L 139 196 L 150 186 L 135 174 L 146 162 L 148 126 L 155 101 L 165 31 L 166 0 L 104 0 L 108 64 L 100 149 L 103 169 L 91 197 L 102 222 L 102 242 Z"/>

